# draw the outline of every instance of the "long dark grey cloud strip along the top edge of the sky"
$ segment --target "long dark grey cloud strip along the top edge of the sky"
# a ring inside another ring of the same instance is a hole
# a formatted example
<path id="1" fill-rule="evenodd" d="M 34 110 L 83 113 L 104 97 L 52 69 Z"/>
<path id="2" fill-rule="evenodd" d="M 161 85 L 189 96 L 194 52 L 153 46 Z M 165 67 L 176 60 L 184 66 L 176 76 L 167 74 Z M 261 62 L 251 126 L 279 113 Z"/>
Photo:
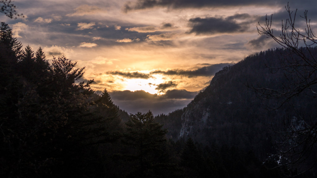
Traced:
<path id="1" fill-rule="evenodd" d="M 228 7 L 228 6 L 245 6 L 245 5 L 268 5 L 287 4 L 288 1 L 255 1 L 255 0 L 136 0 L 129 1 L 124 6 L 124 11 L 148 9 L 153 7 L 179 8 L 202 8 L 202 7 Z"/>

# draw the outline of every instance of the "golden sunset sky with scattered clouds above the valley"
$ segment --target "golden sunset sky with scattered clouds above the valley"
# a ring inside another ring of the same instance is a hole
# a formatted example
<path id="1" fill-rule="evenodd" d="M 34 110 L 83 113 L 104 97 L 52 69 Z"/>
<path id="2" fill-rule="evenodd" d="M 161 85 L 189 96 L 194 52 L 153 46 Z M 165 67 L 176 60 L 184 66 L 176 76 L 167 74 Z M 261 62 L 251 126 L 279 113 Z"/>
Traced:
<path id="1" fill-rule="evenodd" d="M 23 47 L 86 67 L 83 80 L 121 109 L 158 115 L 185 107 L 224 66 L 279 47 L 257 27 L 273 14 L 278 35 L 288 2 L 299 29 L 304 10 L 317 25 L 315 0 L 16 0 L 24 17 L 0 20 Z"/>

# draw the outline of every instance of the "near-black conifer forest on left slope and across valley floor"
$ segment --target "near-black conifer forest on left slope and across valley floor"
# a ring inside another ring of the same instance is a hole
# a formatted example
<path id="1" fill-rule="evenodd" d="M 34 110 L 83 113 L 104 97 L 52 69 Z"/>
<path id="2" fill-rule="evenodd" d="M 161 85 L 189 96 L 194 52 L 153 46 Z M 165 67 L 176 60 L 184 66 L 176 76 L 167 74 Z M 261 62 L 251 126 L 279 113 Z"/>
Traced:
<path id="1" fill-rule="evenodd" d="M 128 117 L 106 89 L 91 89 L 93 79 L 78 82 L 84 69 L 23 49 L 1 22 L 0 177 L 283 176 L 251 149 L 178 140 L 184 109 Z"/>

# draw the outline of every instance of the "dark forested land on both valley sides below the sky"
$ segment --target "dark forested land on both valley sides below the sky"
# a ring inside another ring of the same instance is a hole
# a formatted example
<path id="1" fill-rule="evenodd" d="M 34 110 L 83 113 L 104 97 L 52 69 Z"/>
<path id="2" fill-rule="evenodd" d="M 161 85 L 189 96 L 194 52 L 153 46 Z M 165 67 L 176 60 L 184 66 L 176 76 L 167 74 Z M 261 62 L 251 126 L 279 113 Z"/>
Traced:
<path id="1" fill-rule="evenodd" d="M 316 175 L 316 70 L 306 62 L 316 47 L 251 54 L 186 107 L 154 116 L 122 111 L 80 80 L 85 67 L 65 55 L 49 63 L 12 35 L 1 22 L 1 177 Z"/>

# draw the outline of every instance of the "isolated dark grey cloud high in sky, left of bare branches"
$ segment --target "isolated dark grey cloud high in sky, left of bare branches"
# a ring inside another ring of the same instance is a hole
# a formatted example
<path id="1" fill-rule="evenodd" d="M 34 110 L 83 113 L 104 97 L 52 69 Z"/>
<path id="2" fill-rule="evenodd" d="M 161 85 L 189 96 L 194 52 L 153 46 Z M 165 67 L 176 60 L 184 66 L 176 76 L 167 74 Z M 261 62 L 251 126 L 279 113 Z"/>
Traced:
<path id="1" fill-rule="evenodd" d="M 236 22 L 235 20 L 247 19 L 247 22 Z M 249 29 L 249 24 L 253 23 L 248 14 L 236 14 L 226 18 L 222 17 L 206 17 L 192 18 L 189 20 L 191 30 L 189 33 L 200 34 L 216 34 L 216 33 L 236 33 L 245 32 Z"/>

